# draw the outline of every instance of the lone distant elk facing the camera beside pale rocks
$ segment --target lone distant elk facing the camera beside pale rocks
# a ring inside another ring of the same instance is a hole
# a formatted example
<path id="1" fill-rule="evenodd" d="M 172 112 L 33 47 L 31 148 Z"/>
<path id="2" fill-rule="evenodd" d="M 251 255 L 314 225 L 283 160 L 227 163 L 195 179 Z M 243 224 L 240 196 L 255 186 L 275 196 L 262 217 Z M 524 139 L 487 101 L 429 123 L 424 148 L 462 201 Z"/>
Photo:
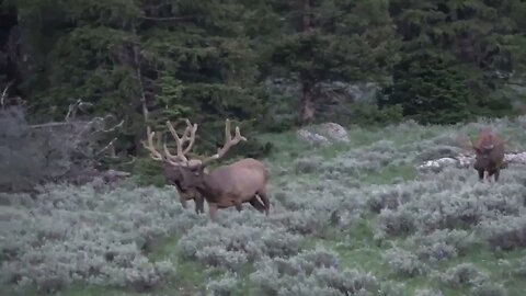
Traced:
<path id="1" fill-rule="evenodd" d="M 502 140 L 496 134 L 484 128 L 479 133 L 477 143 L 469 139 L 469 146 L 474 150 L 474 170 L 479 173 L 479 181 L 483 181 L 484 172 L 488 172 L 488 181 L 493 175 L 499 181 L 501 169 L 504 168 L 504 144 L 511 138 Z"/>

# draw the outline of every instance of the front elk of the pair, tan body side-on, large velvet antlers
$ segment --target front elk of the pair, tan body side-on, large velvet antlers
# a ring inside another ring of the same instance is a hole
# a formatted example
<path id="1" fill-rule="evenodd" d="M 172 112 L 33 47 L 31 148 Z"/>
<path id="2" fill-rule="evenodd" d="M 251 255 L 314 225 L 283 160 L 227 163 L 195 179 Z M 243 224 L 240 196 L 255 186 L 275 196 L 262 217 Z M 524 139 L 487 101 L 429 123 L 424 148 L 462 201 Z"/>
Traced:
<path id="1" fill-rule="evenodd" d="M 179 138 L 170 122 L 167 122 L 167 127 L 175 138 L 178 146 L 175 156 L 170 153 L 165 144 L 163 145 L 164 157 L 156 150 L 152 140 L 155 133 L 149 128 L 148 143 L 144 143 L 145 148 L 151 152 L 155 159 L 170 159 L 167 163 L 170 163 L 170 172 L 173 172 L 180 189 L 183 191 L 196 190 L 204 196 L 208 203 L 209 216 L 213 221 L 216 220 L 218 208 L 235 206 L 240 212 L 243 203 L 250 203 L 259 212 L 265 212 L 265 215 L 268 215 L 270 200 L 266 186 L 270 173 L 261 161 L 245 158 L 228 166 L 221 166 L 211 172 L 206 170 L 211 161 L 222 158 L 232 146 L 247 140 L 247 138 L 241 136 L 239 127 L 236 127 L 236 136 L 232 138 L 230 121 L 226 119 L 225 145 L 222 148 L 218 149 L 217 153 L 211 157 L 194 161 L 188 161 L 185 156 L 192 147 L 188 145 L 183 150 L 183 140 Z M 190 133 L 188 139 L 192 145 L 195 141 L 196 129 L 197 125 L 194 125 L 191 129 L 193 133 Z"/>

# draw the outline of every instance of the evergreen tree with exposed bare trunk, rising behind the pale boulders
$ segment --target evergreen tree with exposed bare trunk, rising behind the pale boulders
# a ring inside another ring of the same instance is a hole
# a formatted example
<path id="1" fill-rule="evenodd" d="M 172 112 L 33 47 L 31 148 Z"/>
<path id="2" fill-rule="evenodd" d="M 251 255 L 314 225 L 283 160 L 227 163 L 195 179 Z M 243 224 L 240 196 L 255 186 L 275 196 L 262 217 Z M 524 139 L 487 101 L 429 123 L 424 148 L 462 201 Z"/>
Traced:
<path id="1" fill-rule="evenodd" d="M 388 1 L 289 0 L 275 4 L 287 23 L 275 42 L 278 75 L 301 86 L 301 118 L 315 118 L 319 82 L 375 79 L 396 58 Z"/>

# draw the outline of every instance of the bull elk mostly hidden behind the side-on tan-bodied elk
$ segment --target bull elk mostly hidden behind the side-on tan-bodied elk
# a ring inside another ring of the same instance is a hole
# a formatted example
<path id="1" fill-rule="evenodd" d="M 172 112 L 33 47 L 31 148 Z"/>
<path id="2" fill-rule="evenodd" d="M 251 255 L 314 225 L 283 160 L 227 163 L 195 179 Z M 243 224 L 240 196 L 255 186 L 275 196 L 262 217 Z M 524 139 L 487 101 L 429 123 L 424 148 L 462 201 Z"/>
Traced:
<path id="1" fill-rule="evenodd" d="M 178 143 L 178 147 L 183 147 L 184 144 L 187 143 L 187 146 L 184 150 L 182 150 L 181 155 L 187 153 L 191 149 L 192 146 L 194 145 L 195 141 L 195 132 L 197 130 L 197 125 L 194 124 L 192 125 L 190 121 L 186 121 L 186 129 L 184 130 L 183 135 L 179 137 L 178 133 L 171 126 L 170 132 L 172 133 L 173 137 L 175 138 Z M 183 208 L 187 207 L 187 201 L 194 201 L 195 203 L 195 213 L 205 213 L 205 200 L 201 195 L 201 193 L 195 190 L 195 189 L 182 189 L 181 187 L 181 172 L 179 170 L 179 166 L 181 161 L 186 161 L 187 163 L 191 164 L 198 164 L 201 163 L 201 160 L 198 159 L 186 159 L 186 158 L 180 158 L 175 157 L 170 153 L 168 150 L 168 147 L 165 144 L 163 145 L 163 150 L 164 155 L 160 153 L 153 145 L 153 136 L 155 132 L 151 132 L 151 128 L 148 126 L 147 127 L 147 143 L 142 141 L 142 146 L 150 151 L 150 157 L 153 160 L 161 161 L 162 162 L 162 169 L 164 172 L 164 178 L 170 182 L 170 184 L 175 186 L 175 190 L 178 191 L 179 198 L 181 202 L 181 205 Z M 158 138 L 159 139 L 159 138 Z"/>

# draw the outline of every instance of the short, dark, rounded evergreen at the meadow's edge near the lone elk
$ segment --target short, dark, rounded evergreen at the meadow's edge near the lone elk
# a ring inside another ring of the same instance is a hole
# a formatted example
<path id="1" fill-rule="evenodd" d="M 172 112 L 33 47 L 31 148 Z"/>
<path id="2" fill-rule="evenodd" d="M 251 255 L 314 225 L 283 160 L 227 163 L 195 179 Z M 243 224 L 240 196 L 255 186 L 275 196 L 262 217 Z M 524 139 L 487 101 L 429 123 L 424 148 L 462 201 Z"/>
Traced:
<path id="1" fill-rule="evenodd" d="M 431 54 L 402 59 L 393 69 L 393 86 L 384 90 L 379 106 L 400 105 L 404 116 L 423 124 L 453 124 L 471 118 L 468 106 L 472 98 L 454 62 Z"/>

